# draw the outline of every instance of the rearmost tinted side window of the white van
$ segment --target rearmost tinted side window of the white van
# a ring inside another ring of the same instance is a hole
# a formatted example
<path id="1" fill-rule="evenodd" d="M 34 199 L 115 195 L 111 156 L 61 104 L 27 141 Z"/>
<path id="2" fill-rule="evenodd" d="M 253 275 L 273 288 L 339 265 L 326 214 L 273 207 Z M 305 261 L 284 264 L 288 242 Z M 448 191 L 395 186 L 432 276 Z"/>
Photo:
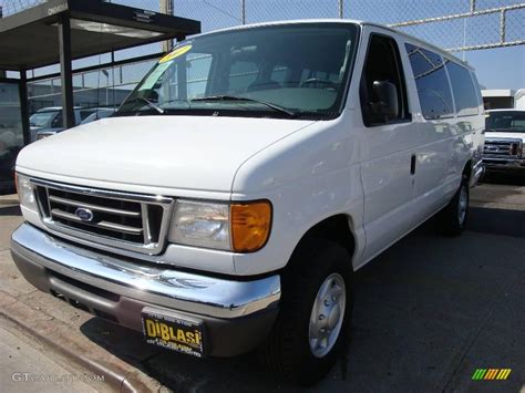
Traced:
<path id="1" fill-rule="evenodd" d="M 471 73 L 464 66 L 446 61 L 446 70 L 454 93 L 455 111 L 459 116 L 477 114 L 477 94 L 472 82 Z"/>

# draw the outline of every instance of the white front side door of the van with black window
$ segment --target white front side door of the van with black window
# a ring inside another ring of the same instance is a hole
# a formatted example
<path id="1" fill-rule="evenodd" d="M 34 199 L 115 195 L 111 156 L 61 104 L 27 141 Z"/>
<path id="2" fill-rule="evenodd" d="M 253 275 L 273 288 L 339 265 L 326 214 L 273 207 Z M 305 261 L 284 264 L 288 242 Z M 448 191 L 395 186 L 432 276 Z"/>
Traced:
<path id="1" fill-rule="evenodd" d="M 368 34 L 367 34 L 368 33 Z M 411 229 L 414 211 L 414 170 L 418 124 L 412 121 L 409 93 L 400 55 L 400 45 L 389 31 L 368 28 L 363 40 L 367 48 L 360 71 L 360 106 L 362 116 L 364 192 L 363 226 L 367 246 L 363 260 L 370 260 Z M 397 115 L 378 115 L 381 100 L 374 82 L 395 86 Z M 357 117 L 359 115 L 357 114 Z"/>

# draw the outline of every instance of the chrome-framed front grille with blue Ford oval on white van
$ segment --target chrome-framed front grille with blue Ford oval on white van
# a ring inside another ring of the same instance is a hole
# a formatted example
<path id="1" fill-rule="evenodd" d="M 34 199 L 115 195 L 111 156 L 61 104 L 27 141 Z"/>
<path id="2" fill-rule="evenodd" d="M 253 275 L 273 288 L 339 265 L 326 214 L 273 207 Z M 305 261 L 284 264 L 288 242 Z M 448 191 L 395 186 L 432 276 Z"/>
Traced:
<path id="1" fill-rule="evenodd" d="M 53 230 L 143 254 L 164 248 L 172 198 L 32 179 L 43 223 Z"/>

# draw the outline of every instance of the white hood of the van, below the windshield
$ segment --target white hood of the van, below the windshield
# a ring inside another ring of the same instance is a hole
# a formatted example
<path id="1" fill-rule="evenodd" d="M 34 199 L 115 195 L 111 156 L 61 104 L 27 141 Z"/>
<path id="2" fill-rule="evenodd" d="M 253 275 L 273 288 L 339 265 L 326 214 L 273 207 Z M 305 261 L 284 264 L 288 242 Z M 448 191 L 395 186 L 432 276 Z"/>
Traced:
<path id="1" fill-rule="evenodd" d="M 315 122 L 210 116 L 110 117 L 23 148 L 17 169 L 142 186 L 229 192 L 239 166 Z"/>

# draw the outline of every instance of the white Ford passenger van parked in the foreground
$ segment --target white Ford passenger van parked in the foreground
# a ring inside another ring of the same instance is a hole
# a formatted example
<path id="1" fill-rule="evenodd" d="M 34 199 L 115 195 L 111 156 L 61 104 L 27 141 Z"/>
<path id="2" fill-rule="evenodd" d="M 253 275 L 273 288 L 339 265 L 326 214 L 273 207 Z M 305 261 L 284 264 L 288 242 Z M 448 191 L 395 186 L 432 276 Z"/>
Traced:
<path id="1" fill-rule="evenodd" d="M 12 256 L 43 291 L 189 355 L 259 348 L 308 384 L 333 364 L 352 273 L 483 172 L 474 72 L 356 21 L 200 34 L 111 118 L 25 147 Z"/>

